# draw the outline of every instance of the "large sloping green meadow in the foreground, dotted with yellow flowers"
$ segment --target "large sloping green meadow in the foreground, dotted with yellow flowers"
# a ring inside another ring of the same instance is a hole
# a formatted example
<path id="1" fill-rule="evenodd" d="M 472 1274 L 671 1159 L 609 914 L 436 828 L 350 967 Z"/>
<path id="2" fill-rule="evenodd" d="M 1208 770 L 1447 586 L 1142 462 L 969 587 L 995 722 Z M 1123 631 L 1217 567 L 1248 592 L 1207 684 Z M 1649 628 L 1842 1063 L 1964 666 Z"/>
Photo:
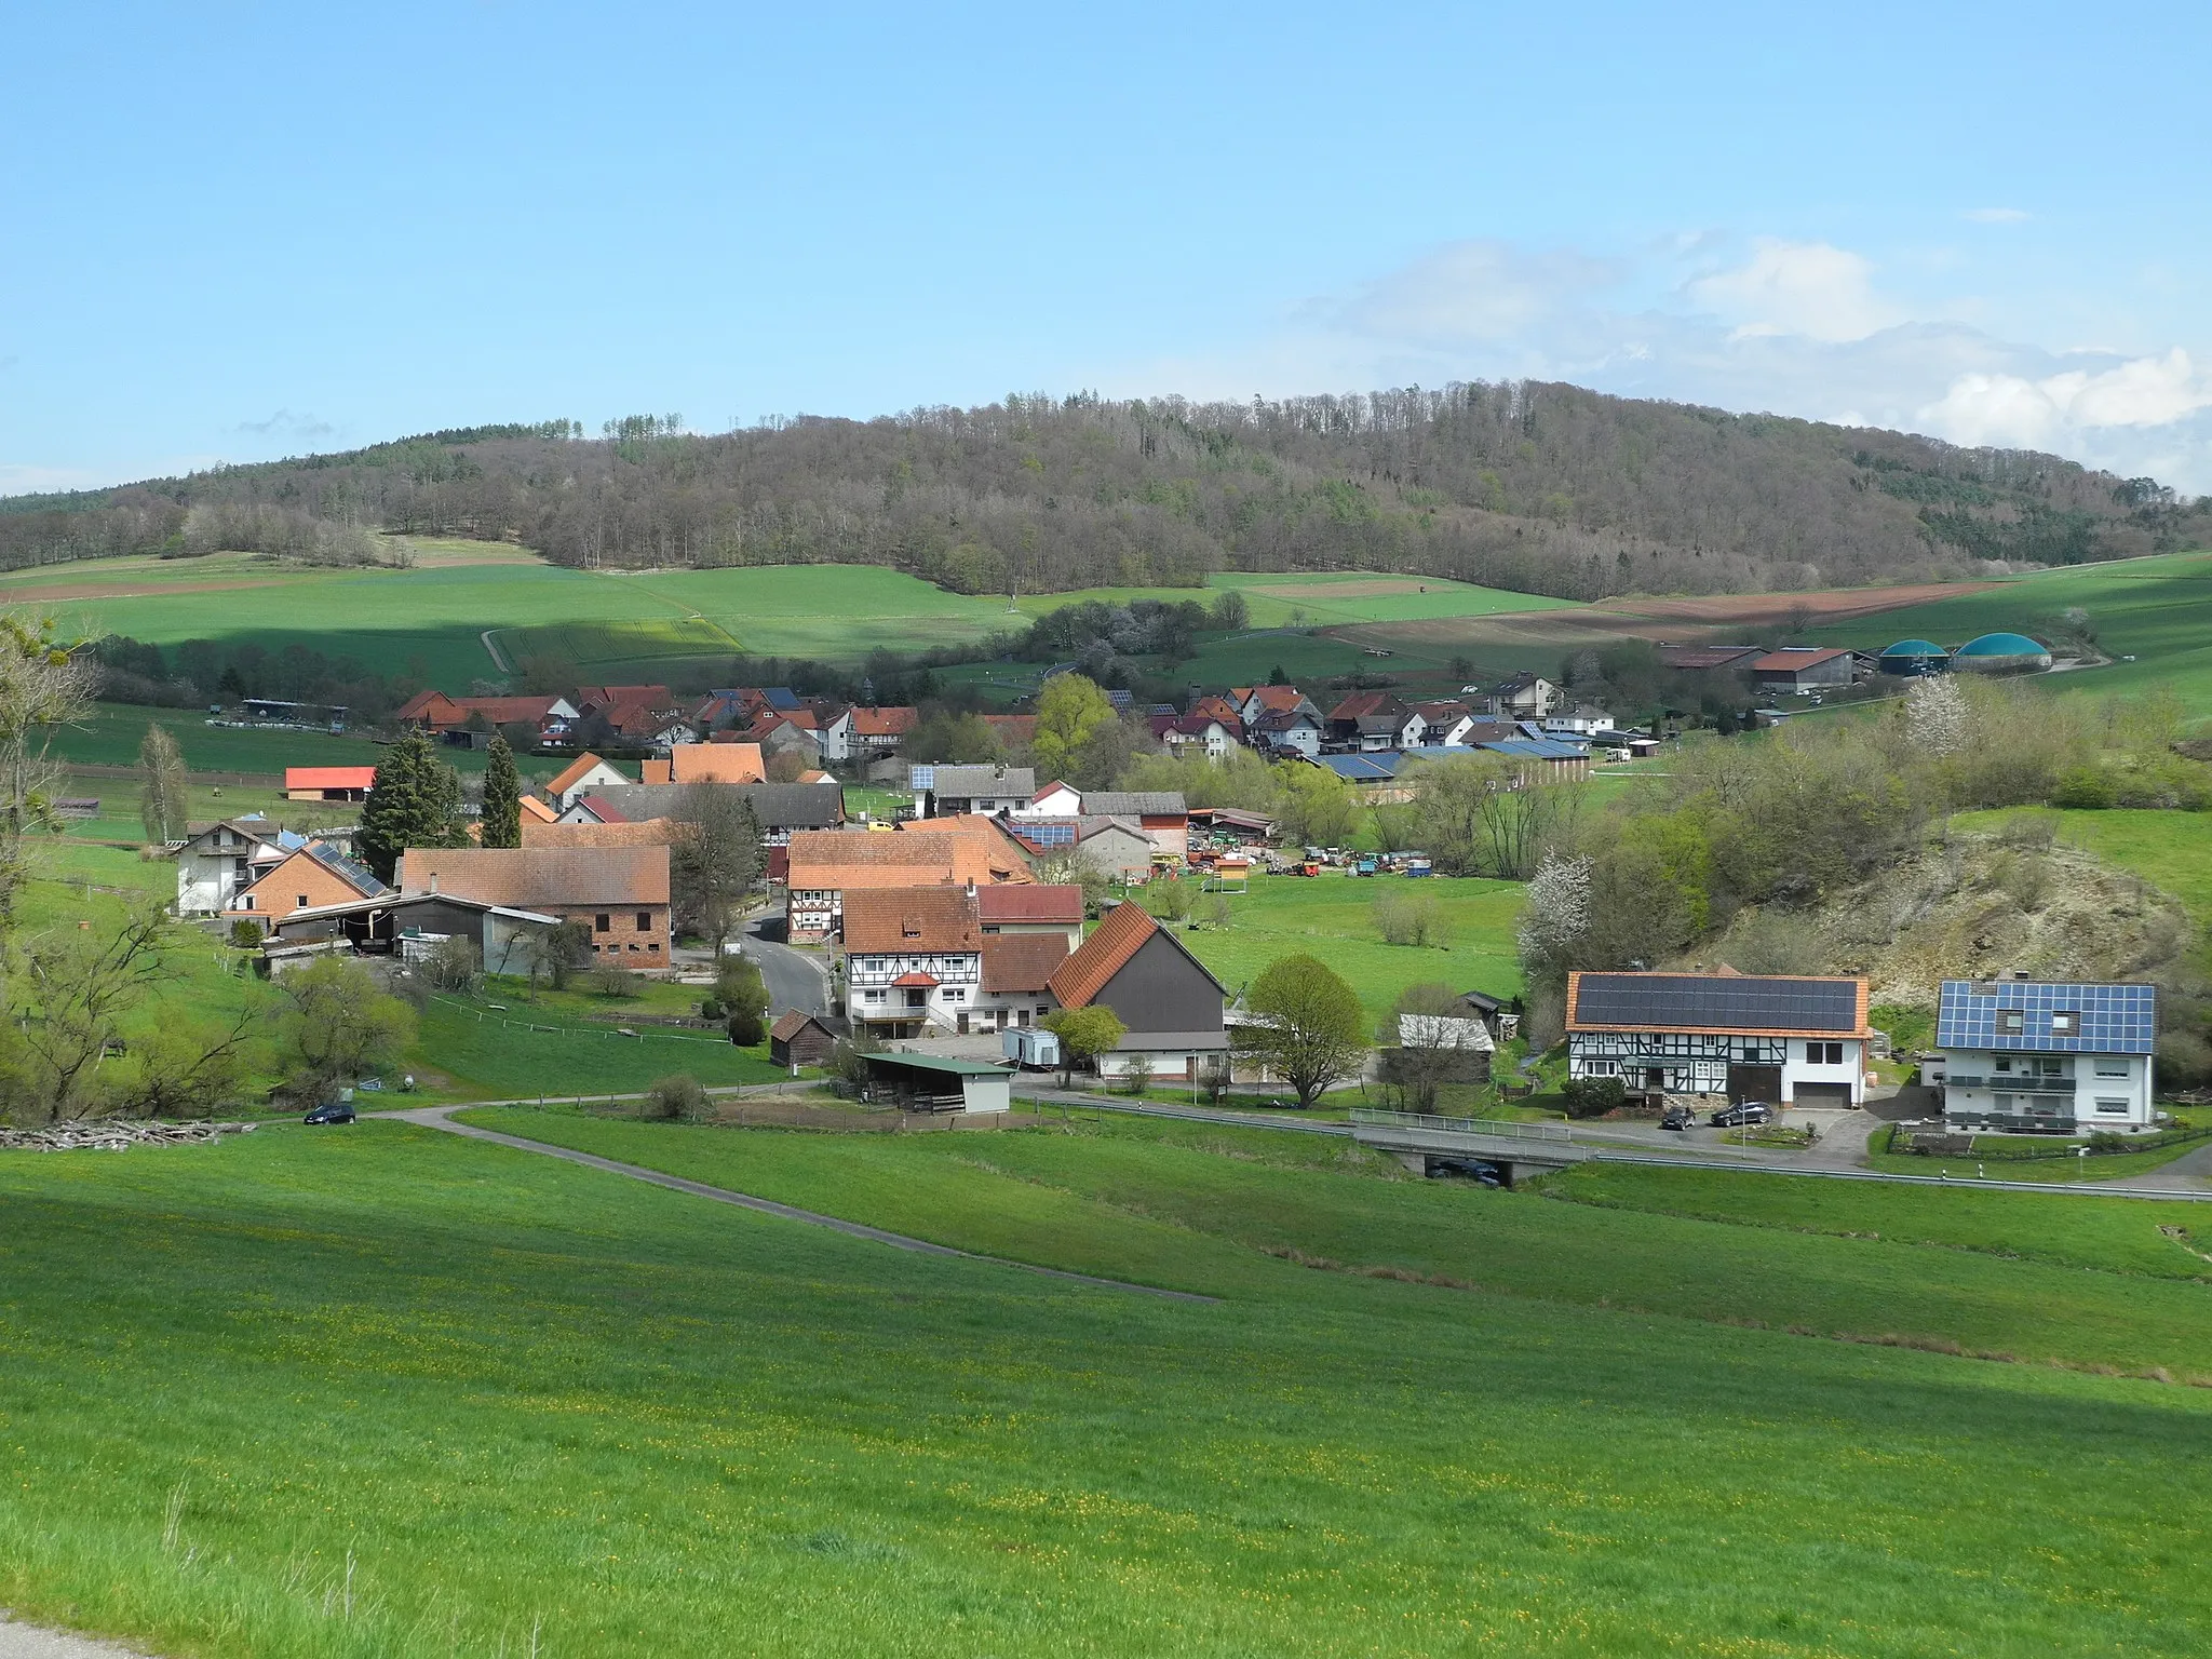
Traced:
<path id="1" fill-rule="evenodd" d="M 2079 1352 L 2201 1340 L 2194 1285 L 1385 1181 L 1301 1137 L 571 1121 L 1223 1301 L 396 1124 L 0 1155 L 0 1601 L 175 1659 L 2203 1650 L 2212 1537 L 2177 1493 L 2212 1396 L 1579 1279 L 1679 1263 L 1725 1305 L 1825 1270 Z M 1575 1228 L 1601 1245 L 1553 1267 Z M 1736 1234 L 1778 1265 L 1710 1270 Z"/>

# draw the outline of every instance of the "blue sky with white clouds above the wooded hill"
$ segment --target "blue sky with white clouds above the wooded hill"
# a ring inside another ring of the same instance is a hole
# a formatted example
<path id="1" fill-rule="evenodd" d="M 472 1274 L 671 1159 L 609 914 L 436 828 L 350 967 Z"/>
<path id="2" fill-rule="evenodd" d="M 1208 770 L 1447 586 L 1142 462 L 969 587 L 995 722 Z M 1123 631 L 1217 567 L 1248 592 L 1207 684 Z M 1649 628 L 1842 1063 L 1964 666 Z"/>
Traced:
<path id="1" fill-rule="evenodd" d="M 1522 374 L 2212 493 L 2205 62 L 2126 2 L 15 7 L 0 493 Z"/>

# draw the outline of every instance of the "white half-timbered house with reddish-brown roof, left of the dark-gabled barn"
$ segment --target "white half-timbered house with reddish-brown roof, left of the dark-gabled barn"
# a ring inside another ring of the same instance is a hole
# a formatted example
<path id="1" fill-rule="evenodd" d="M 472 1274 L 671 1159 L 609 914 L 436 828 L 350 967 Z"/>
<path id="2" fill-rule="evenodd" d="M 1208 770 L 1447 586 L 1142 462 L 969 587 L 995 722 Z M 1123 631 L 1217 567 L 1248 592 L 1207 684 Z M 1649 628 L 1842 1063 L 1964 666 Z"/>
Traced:
<path id="1" fill-rule="evenodd" d="M 856 1031 L 967 1035 L 982 998 L 973 887 L 845 894 L 845 1009 Z"/>

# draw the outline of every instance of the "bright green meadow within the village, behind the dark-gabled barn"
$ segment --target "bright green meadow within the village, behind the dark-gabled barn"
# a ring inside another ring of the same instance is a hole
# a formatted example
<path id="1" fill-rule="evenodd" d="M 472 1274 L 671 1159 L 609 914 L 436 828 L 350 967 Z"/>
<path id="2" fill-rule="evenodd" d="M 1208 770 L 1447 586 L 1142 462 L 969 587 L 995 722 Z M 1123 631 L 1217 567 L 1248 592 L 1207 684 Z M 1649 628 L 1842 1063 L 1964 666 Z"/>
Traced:
<path id="1" fill-rule="evenodd" d="M 1374 905 L 1387 891 L 1436 900 L 1442 947 L 1385 945 Z M 1203 902 L 1203 900 L 1201 900 Z M 1279 956 L 1318 956 L 1360 993 L 1369 1018 L 1380 1020 L 1409 984 L 1444 980 L 1455 991 L 1520 991 L 1513 920 L 1522 885 L 1455 876 L 1252 876 L 1252 891 L 1228 894 L 1230 925 L 1179 933 L 1234 995 Z"/>

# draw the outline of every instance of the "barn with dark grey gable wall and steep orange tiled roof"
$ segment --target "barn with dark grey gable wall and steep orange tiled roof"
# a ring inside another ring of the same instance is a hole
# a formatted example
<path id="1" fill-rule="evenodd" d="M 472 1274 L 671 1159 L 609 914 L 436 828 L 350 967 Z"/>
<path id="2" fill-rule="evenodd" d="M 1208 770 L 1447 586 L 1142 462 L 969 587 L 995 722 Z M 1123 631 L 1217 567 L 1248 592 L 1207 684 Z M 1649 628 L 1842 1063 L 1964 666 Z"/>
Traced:
<path id="1" fill-rule="evenodd" d="M 1225 1055 L 1221 982 L 1141 905 L 1115 905 L 1062 962 L 1048 989 L 1062 1009 L 1106 1006 L 1126 1026 L 1099 1077 L 1126 1075 L 1139 1055 L 1159 1079 L 1188 1082 L 1210 1055 Z"/>

